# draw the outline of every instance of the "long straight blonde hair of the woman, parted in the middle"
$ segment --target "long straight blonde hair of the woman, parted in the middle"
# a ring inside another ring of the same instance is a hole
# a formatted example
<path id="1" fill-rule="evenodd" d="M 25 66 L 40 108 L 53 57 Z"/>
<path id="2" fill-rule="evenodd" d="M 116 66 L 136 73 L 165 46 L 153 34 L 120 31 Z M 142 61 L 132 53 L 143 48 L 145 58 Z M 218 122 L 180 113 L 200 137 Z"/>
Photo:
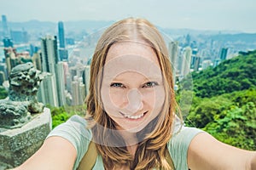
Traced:
<path id="1" fill-rule="evenodd" d="M 109 134 L 104 130 L 115 129 L 116 124 L 102 109 L 102 100 L 99 94 L 102 68 L 105 65 L 108 49 L 117 42 L 137 40 L 147 42 L 154 49 L 162 71 L 166 95 L 160 115 L 141 132 L 143 140 L 138 143 L 133 159 L 125 147 L 110 146 L 112 138 L 121 138 L 117 133 Z M 114 23 L 104 31 L 96 45 L 96 51 L 90 64 L 90 94 L 86 99 L 86 119 L 90 124 L 93 138 L 97 141 L 96 148 L 102 155 L 104 166 L 107 169 L 113 168 L 114 165 L 128 165 L 131 169 L 153 167 L 171 169 L 166 161 L 166 153 L 167 143 L 172 137 L 174 111 L 177 107 L 173 86 L 172 65 L 168 57 L 166 43 L 160 32 L 148 20 L 128 18 Z"/>

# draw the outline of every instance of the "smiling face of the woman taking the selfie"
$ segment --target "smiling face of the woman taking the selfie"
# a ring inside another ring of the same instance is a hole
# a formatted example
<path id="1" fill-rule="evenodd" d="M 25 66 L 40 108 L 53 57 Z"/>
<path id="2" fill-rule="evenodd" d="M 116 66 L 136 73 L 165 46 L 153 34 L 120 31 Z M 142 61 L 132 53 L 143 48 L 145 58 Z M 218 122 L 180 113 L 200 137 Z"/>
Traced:
<path id="1" fill-rule="evenodd" d="M 108 50 L 101 88 L 103 109 L 119 130 L 137 133 L 160 114 L 165 100 L 160 65 L 153 48 L 118 42 Z"/>

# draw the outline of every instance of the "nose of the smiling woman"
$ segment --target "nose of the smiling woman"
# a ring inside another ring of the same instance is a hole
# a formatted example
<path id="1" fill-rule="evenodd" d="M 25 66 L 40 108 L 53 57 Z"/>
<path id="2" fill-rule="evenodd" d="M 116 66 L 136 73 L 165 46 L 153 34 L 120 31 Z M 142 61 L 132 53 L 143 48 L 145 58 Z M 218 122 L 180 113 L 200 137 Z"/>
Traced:
<path id="1" fill-rule="evenodd" d="M 129 111 L 129 114 L 143 109 L 143 95 L 137 88 L 133 88 L 127 93 L 127 99 L 128 105 L 126 106 L 126 110 Z"/>

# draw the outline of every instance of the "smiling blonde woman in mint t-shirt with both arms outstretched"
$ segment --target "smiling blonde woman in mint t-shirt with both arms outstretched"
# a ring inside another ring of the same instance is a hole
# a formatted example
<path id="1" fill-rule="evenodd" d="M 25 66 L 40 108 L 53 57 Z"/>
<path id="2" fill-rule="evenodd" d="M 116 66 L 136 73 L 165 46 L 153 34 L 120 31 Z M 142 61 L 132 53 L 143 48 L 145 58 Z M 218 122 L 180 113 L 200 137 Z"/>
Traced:
<path id="1" fill-rule="evenodd" d="M 148 20 L 120 20 L 102 34 L 86 105 L 85 118 L 55 127 L 16 169 L 77 169 L 91 143 L 93 169 L 256 169 L 254 151 L 183 127 L 166 44 Z"/>

